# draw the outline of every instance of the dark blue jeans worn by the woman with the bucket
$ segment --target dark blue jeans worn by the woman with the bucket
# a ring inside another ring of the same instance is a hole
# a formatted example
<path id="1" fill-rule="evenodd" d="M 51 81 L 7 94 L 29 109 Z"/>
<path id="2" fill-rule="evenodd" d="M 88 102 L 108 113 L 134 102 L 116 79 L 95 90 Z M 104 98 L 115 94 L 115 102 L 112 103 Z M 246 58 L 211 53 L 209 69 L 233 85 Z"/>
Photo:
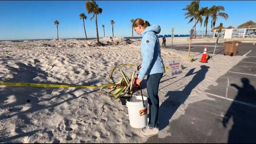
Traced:
<path id="1" fill-rule="evenodd" d="M 150 117 L 148 126 L 155 128 L 158 119 L 159 97 L 158 87 L 163 73 L 156 73 L 147 76 L 147 101 L 150 105 Z"/>

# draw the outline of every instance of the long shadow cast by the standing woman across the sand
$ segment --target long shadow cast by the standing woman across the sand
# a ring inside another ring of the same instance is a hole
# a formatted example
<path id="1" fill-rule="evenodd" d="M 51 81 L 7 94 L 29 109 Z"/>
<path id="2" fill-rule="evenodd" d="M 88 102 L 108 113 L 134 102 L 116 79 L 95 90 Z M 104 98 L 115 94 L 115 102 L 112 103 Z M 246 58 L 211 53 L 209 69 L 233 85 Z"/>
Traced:
<path id="1" fill-rule="evenodd" d="M 205 74 L 208 72 L 210 67 L 201 66 L 201 69 L 194 72 L 195 69 L 189 70 L 189 72 L 184 76 L 189 76 L 196 74 L 192 80 L 185 86 L 182 91 L 169 91 L 165 97 L 168 97 L 159 107 L 158 114 L 158 128 L 159 130 L 164 129 L 169 125 L 169 120 L 172 118 L 173 114 L 177 111 L 181 104 L 183 104 L 191 91 L 205 78 Z M 194 72 L 194 73 L 193 73 Z"/>

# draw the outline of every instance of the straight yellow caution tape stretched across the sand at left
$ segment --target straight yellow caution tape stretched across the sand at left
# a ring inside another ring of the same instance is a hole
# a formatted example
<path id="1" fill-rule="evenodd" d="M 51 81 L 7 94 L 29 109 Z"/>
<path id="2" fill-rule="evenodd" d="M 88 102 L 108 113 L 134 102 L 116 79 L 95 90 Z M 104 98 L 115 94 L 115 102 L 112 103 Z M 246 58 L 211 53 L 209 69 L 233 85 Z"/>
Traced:
<path id="1" fill-rule="evenodd" d="M 5 82 L 0 82 L 0 86 L 26 86 L 26 87 L 82 87 L 82 88 L 100 88 L 100 87 L 101 87 L 101 86 L 82 86 L 82 85 L 53 85 L 53 84 L 5 83 Z"/>

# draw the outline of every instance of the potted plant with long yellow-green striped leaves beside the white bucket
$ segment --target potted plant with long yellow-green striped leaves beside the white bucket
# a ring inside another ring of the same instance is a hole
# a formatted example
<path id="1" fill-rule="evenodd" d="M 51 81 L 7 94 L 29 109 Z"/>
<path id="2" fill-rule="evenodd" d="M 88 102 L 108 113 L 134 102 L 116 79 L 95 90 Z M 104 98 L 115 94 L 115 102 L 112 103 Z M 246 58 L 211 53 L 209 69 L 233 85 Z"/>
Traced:
<path id="1" fill-rule="evenodd" d="M 136 88 L 136 85 L 134 84 L 134 82 L 135 82 L 134 75 L 135 75 L 136 71 L 134 71 L 132 73 L 130 80 L 129 80 L 128 76 L 126 76 L 125 73 L 122 71 L 122 69 L 120 69 L 120 72 L 123 77 L 117 83 L 104 84 L 103 86 L 101 86 L 101 88 L 99 90 L 99 91 L 101 91 L 103 88 L 106 88 L 106 87 L 109 87 L 110 89 L 113 88 L 113 90 L 111 90 L 110 92 L 111 92 L 114 100 L 120 98 L 124 94 L 127 86 L 130 83 L 131 84 L 130 84 L 129 88 L 126 91 L 126 93 L 128 95 L 132 95 Z"/>

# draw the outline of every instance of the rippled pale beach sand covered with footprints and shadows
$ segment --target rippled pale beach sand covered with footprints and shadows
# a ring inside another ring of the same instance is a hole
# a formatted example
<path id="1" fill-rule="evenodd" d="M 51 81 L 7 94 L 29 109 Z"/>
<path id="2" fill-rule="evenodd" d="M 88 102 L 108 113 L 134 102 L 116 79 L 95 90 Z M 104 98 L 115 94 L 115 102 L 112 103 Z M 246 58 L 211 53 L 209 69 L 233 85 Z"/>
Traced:
<path id="1" fill-rule="evenodd" d="M 169 39 L 167 44 L 171 43 Z M 174 44 L 189 44 L 185 38 L 174 40 Z M 101 38 L 100 43 L 102 46 L 98 46 L 96 40 L 0 42 L 0 81 L 101 86 L 108 83 L 109 73 L 116 65 L 142 62 L 141 39 Z M 196 61 L 190 62 L 187 52 L 161 49 L 165 66 L 168 66 L 168 60 L 180 60 L 186 67 L 182 74 L 174 76 L 166 70 L 160 81 L 160 108 L 169 97 L 173 97 L 173 103 L 182 103 L 171 118 L 159 115 L 169 123 L 185 114 L 190 103 L 205 99 L 214 101 L 203 91 L 209 85 L 217 85 L 217 78 L 243 58 L 216 55 L 208 63 L 201 63 L 202 54 L 192 54 Z M 137 70 L 129 66 L 121 68 L 128 76 Z M 200 80 L 197 72 L 205 78 Z M 118 68 L 111 82 L 120 78 Z M 187 91 L 186 86 L 191 80 L 198 80 L 198 84 Z M 118 100 L 111 100 L 106 91 L 109 90 L 0 86 L 0 142 L 146 142 L 147 138 L 139 135 L 140 129 L 129 125 L 127 107 Z M 146 96 L 146 89 L 143 89 L 143 95 Z M 188 97 L 184 99 L 180 95 Z M 171 111 L 173 107 L 175 105 L 170 105 L 167 110 Z M 168 125 L 163 127 L 158 137 L 170 135 L 169 131 Z"/>

